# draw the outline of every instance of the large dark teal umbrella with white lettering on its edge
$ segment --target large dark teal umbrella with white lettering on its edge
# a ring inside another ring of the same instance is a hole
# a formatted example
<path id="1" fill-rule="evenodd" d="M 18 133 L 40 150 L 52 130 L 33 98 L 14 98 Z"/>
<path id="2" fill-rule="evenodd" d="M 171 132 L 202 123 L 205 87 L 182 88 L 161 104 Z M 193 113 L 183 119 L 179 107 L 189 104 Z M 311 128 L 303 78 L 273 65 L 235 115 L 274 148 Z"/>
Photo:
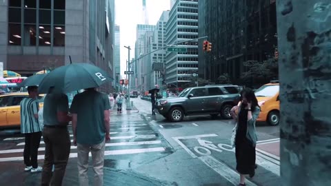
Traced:
<path id="1" fill-rule="evenodd" d="M 46 77 L 39 84 L 38 92 L 48 94 L 52 90 L 53 93 L 67 93 L 99 87 L 110 80 L 110 76 L 97 66 L 88 63 L 72 63 L 46 74 Z"/>

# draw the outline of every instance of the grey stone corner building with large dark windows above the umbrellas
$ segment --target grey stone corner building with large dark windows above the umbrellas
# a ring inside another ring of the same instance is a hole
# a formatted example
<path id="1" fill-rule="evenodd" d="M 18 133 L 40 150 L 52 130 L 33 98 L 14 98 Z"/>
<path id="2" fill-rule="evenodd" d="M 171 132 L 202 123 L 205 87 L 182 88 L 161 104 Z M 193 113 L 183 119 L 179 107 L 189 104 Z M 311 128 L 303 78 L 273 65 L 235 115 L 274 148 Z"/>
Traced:
<path id="1" fill-rule="evenodd" d="M 114 0 L 0 1 L 0 12 L 4 70 L 30 76 L 69 64 L 70 56 L 72 63 L 93 63 L 112 76 Z"/>

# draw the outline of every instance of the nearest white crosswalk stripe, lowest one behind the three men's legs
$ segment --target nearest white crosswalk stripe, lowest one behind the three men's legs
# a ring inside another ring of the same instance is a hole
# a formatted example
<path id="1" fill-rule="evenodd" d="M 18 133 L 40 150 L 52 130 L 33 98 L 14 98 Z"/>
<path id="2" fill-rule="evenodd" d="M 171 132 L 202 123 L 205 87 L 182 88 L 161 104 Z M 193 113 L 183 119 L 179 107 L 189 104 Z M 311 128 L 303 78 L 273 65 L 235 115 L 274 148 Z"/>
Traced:
<path id="1" fill-rule="evenodd" d="M 154 148 L 143 148 L 143 149 L 121 149 L 121 150 L 108 150 L 105 151 L 105 155 L 121 155 L 121 154 L 139 154 L 144 152 L 161 152 L 164 151 L 163 147 Z M 89 154 L 91 156 L 91 154 Z M 42 160 L 45 155 L 39 155 L 38 159 Z M 69 158 L 77 158 L 77 153 L 70 153 Z M 23 161 L 23 156 L 20 157 L 10 157 L 10 158 L 0 158 L 0 162 L 4 161 Z"/>

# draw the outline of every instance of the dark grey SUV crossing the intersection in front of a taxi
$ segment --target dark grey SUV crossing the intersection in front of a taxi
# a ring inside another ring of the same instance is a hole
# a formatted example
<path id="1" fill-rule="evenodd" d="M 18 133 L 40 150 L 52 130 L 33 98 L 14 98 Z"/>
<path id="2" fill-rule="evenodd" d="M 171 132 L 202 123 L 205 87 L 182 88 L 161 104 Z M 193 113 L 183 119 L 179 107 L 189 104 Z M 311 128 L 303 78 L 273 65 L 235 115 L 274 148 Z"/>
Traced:
<path id="1" fill-rule="evenodd" d="M 210 114 L 230 119 L 230 110 L 239 102 L 240 94 L 237 85 L 207 85 L 189 87 L 178 97 L 161 99 L 157 110 L 170 121 L 182 121 L 184 116 Z"/>

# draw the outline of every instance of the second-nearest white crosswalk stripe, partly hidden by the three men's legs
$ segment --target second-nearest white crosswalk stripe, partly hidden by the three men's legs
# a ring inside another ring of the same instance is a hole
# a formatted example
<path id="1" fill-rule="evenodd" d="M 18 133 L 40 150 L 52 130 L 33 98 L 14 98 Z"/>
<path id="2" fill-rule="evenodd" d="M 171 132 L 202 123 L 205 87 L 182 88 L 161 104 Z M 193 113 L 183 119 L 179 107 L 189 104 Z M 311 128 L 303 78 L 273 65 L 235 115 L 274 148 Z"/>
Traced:
<path id="1" fill-rule="evenodd" d="M 119 142 L 119 143 L 106 143 L 106 147 L 114 147 L 114 146 L 126 146 L 126 145 L 152 145 L 152 144 L 160 144 L 161 141 L 130 141 L 130 142 Z M 70 146 L 70 149 L 77 149 L 77 146 Z M 8 154 L 8 153 L 18 153 L 23 152 L 24 149 L 7 149 L 0 150 L 0 154 Z M 38 151 L 45 151 L 45 147 L 39 147 Z"/>

